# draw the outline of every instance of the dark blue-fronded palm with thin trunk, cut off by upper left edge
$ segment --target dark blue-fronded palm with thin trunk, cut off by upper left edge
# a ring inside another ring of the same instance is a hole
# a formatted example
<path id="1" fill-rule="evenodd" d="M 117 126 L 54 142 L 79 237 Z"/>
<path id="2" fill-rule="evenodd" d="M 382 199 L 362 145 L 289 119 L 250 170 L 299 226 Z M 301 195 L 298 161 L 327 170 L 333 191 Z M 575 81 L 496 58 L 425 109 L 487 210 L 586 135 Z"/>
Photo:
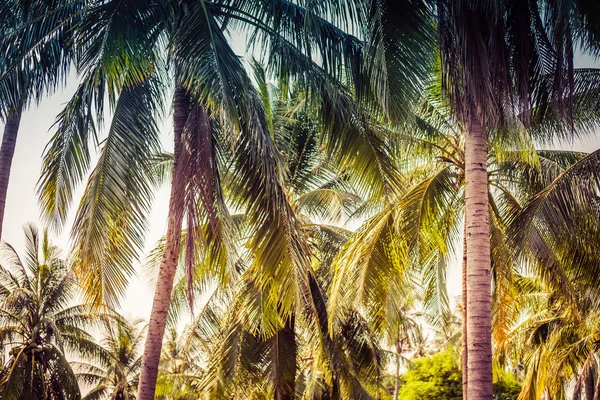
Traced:
<path id="1" fill-rule="evenodd" d="M 9 0 L 0 6 L 0 116 L 5 123 L 0 147 L 0 237 L 21 115 L 30 103 L 39 102 L 64 82 L 65 66 L 73 56 L 64 17 L 78 8 L 78 2 L 70 1 Z"/>

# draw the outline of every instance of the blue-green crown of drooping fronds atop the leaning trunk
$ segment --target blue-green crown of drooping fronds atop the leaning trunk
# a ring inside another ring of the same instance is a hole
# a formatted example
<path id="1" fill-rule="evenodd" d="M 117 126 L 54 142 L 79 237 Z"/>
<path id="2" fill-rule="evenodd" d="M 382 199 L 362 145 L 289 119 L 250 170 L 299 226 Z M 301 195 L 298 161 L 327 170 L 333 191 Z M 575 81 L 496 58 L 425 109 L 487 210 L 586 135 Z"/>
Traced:
<path id="1" fill-rule="evenodd" d="M 281 184 L 276 183 L 281 167 L 268 135 L 265 111 L 223 29 L 231 26 L 260 38 L 254 42 L 262 44 L 269 73 L 310 89 L 308 98 L 314 100 L 330 132 L 329 151 L 348 167 L 373 169 L 376 164 L 347 156 L 371 147 L 360 145 L 357 138 L 368 137 L 369 132 L 357 130 L 356 122 L 361 116 L 347 113 L 352 106 L 351 96 L 340 89 L 341 82 L 347 79 L 352 79 L 356 92 L 380 82 L 365 78 L 368 74 L 364 65 L 369 65 L 369 57 L 381 56 L 381 51 L 375 44 L 365 43 L 374 34 L 370 28 L 364 33 L 356 32 L 357 36 L 344 31 L 352 31 L 350 25 L 368 14 L 366 6 L 343 4 L 302 7 L 283 1 L 275 7 L 261 1 L 200 1 L 187 4 L 185 10 L 179 3 L 166 0 L 86 5 L 72 27 L 81 84 L 57 120 L 56 133 L 44 159 L 40 199 L 48 220 L 62 226 L 73 189 L 90 167 L 89 145 L 98 140 L 96 131 L 102 122 L 104 96 L 108 95 L 113 114 L 108 136 L 100 143 L 100 162 L 88 181 L 72 231 L 74 253 L 80 260 L 78 271 L 87 282 L 90 299 L 117 301 L 133 272 L 131 262 L 141 247 L 152 199 L 148 160 L 158 150 L 157 123 L 164 111 L 163 99 L 173 82 L 186 88 L 194 102 L 204 104 L 219 117 L 225 131 L 224 142 L 235 148 L 233 168 L 237 179 L 246 183 L 239 188 L 240 205 L 254 219 L 253 225 L 264 229 L 261 236 L 265 240 L 255 243 L 257 255 L 268 264 L 306 262 L 302 250 L 295 248 L 296 239 L 285 244 L 287 250 L 276 249 L 272 239 L 267 246 L 271 233 L 273 237 L 280 236 L 278 229 L 294 236 L 299 229 L 282 202 Z M 419 7 L 410 4 L 415 10 Z M 423 21 L 430 18 L 426 12 L 418 12 L 418 16 Z M 351 17 L 350 25 L 344 22 L 346 17 Z M 299 26 L 300 31 L 296 29 Z M 431 32 L 426 31 L 411 34 L 415 57 L 426 58 L 424 50 L 414 44 L 419 35 L 430 38 Z M 311 59 L 314 49 L 320 52 L 315 61 Z M 414 82 L 420 81 L 415 74 L 422 71 L 413 70 L 411 60 L 393 60 L 396 67 L 407 72 L 398 77 L 406 78 L 414 87 L 403 94 L 408 96 L 416 91 Z M 379 68 L 385 63 L 385 58 L 380 59 Z M 378 88 L 366 93 L 384 96 L 386 91 Z M 377 102 L 375 96 L 370 98 Z M 404 103 L 390 100 L 388 104 Z M 200 167 L 194 167 L 199 174 L 195 185 L 200 186 L 202 181 L 210 182 L 209 186 L 218 185 L 217 171 Z M 200 187 L 196 192 L 216 194 L 218 190 L 207 192 Z M 205 209 L 219 208 L 209 205 L 218 203 L 218 198 L 204 197 Z M 202 216 L 192 219 L 195 218 Z M 110 232 L 104 234 L 107 228 Z M 93 278 L 98 276 L 106 279 Z M 98 287 L 99 282 L 106 286 Z"/>

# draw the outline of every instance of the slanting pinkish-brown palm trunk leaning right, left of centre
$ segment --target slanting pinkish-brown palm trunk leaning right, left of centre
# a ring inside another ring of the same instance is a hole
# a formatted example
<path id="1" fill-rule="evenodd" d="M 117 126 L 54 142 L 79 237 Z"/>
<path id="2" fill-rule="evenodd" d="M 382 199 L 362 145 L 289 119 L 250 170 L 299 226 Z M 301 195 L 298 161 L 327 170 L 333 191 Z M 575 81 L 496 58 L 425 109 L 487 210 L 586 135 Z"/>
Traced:
<path id="1" fill-rule="evenodd" d="M 173 280 L 179 261 L 181 249 L 181 229 L 183 224 L 184 194 L 186 184 L 186 171 L 182 163 L 183 131 L 190 112 L 190 99 L 183 88 L 175 90 L 174 99 L 174 152 L 173 152 L 173 177 L 171 181 L 171 198 L 169 200 L 169 216 L 167 222 L 167 235 L 163 257 L 156 281 L 152 313 L 148 322 L 146 344 L 142 358 L 142 370 L 138 389 L 139 400 L 153 400 L 156 391 L 156 378 L 158 376 L 158 363 L 162 348 L 163 336 L 167 324 L 167 314 L 171 302 Z"/>

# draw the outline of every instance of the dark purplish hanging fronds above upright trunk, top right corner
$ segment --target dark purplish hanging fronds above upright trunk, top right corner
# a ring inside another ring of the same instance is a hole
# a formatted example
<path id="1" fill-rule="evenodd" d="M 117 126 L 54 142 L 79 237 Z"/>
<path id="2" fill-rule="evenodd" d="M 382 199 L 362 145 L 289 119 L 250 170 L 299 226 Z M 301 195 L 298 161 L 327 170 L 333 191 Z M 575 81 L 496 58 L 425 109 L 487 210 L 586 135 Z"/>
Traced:
<path id="1" fill-rule="evenodd" d="M 465 122 L 476 118 L 494 130 L 521 113 L 526 123 L 556 111 L 572 118 L 574 49 L 598 51 L 591 3 L 440 0 L 435 6 L 442 86 Z"/>

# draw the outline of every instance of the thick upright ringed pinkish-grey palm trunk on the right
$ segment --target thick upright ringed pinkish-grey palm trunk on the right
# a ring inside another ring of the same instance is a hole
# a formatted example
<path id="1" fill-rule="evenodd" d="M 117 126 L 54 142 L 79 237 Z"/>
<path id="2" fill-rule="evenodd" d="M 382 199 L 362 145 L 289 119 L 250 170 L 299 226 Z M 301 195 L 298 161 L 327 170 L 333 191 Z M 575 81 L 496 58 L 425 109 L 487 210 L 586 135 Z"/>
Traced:
<path id="1" fill-rule="evenodd" d="M 469 400 L 492 399 L 492 296 L 487 135 L 471 117 L 465 138 L 467 352 Z"/>

